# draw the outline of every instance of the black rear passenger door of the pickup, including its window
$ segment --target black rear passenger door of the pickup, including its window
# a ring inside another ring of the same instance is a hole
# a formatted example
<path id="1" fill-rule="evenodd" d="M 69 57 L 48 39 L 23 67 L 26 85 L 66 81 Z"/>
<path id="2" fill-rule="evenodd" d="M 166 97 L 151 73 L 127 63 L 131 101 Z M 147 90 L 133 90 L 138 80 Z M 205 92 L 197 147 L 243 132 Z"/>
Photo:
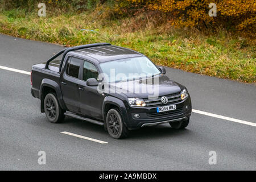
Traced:
<path id="1" fill-rule="evenodd" d="M 69 56 L 67 61 L 67 67 L 63 75 L 60 77 L 63 100 L 68 110 L 74 113 L 80 113 L 80 96 L 78 82 L 80 68 L 82 68 L 83 63 L 83 60 Z"/>

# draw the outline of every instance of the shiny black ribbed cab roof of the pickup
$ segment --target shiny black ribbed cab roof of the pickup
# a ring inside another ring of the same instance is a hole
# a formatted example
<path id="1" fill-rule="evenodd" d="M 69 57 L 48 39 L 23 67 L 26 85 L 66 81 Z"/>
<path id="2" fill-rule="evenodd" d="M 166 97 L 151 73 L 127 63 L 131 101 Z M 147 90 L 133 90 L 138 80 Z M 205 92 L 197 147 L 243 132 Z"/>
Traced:
<path id="1" fill-rule="evenodd" d="M 131 49 L 112 45 L 89 47 L 71 52 L 77 53 L 79 55 L 92 57 L 93 59 L 98 60 L 98 62 L 100 63 L 118 59 L 125 59 L 129 57 L 144 56 L 141 53 L 133 51 Z"/>

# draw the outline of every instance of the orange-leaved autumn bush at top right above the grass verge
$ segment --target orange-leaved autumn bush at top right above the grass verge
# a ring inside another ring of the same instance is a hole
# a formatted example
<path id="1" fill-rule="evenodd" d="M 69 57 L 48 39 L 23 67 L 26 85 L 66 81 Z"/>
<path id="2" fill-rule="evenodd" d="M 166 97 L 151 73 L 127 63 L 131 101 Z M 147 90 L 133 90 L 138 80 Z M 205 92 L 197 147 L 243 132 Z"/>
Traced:
<path id="1" fill-rule="evenodd" d="M 255 0 L 127 0 L 128 6 L 168 14 L 176 27 L 226 27 L 255 34 Z M 120 0 L 119 0 L 120 2 Z M 217 6 L 217 16 L 209 16 L 210 3 Z"/>

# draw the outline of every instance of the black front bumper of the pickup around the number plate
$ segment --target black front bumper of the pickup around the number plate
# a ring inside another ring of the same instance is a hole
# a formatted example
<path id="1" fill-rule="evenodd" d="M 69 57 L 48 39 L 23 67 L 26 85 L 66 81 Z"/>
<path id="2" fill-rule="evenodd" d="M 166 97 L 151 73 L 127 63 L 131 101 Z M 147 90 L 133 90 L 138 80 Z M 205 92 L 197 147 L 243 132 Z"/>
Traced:
<path id="1" fill-rule="evenodd" d="M 156 107 L 129 107 L 129 109 L 127 109 L 128 119 L 126 121 L 126 126 L 130 130 L 134 130 L 143 126 L 182 121 L 190 117 L 192 110 L 190 96 L 184 101 L 171 103 L 170 105 L 172 104 L 176 105 L 176 110 L 165 111 L 162 113 L 157 113 Z M 134 114 L 139 114 L 140 117 L 135 118 Z"/>

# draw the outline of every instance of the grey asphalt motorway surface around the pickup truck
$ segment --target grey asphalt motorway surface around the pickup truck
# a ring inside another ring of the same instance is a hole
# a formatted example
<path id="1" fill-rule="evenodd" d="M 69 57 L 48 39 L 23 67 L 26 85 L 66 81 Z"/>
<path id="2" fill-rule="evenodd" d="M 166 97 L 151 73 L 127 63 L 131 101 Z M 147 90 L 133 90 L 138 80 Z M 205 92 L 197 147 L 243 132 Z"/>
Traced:
<path id="1" fill-rule="evenodd" d="M 30 72 L 62 49 L 0 34 L 0 66 Z M 193 109 L 256 123 L 256 86 L 167 68 L 187 86 Z M 187 129 L 166 125 L 132 131 L 116 140 L 103 127 L 66 118 L 52 124 L 31 96 L 30 76 L 0 69 L 2 170 L 256 170 L 256 127 L 192 113 Z M 68 131 L 105 144 L 65 135 Z M 38 152 L 46 152 L 46 165 Z M 210 165 L 209 152 L 217 164 Z"/>

